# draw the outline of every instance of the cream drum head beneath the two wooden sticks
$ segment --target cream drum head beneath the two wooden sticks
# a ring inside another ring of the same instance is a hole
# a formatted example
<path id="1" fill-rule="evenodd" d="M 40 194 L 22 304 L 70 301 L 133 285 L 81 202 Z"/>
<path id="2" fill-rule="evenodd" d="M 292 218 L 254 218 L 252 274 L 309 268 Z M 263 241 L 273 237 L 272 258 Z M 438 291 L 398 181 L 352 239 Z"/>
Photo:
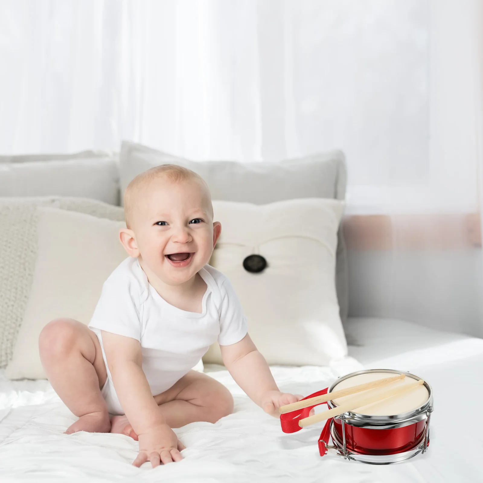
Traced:
<path id="1" fill-rule="evenodd" d="M 375 381 L 377 379 L 385 379 L 387 377 L 391 377 L 391 375 L 392 374 L 387 372 L 367 372 L 363 374 L 357 374 L 355 376 L 348 377 L 347 379 L 344 379 L 343 381 L 335 385 L 332 388 L 332 391 L 339 391 L 340 389 L 346 389 L 347 387 L 369 383 L 370 381 Z M 411 384 L 413 382 L 414 379 L 412 379 L 412 377 L 405 377 L 400 381 L 396 381 L 386 385 L 385 388 L 388 388 L 390 386 L 402 386 L 404 384 Z M 368 391 L 371 391 L 371 389 L 369 389 Z M 368 391 L 363 391 L 350 396 L 344 396 L 343 398 L 337 398 L 334 399 L 332 402 L 334 403 L 334 405 L 339 406 L 344 402 L 349 402 L 351 398 L 365 394 Z M 426 389 L 424 384 L 422 384 L 405 394 L 383 399 L 382 401 L 378 401 L 367 406 L 357 408 L 352 412 L 355 412 L 357 414 L 366 414 L 368 416 L 393 416 L 418 409 L 422 407 L 428 399 L 428 390 Z"/>

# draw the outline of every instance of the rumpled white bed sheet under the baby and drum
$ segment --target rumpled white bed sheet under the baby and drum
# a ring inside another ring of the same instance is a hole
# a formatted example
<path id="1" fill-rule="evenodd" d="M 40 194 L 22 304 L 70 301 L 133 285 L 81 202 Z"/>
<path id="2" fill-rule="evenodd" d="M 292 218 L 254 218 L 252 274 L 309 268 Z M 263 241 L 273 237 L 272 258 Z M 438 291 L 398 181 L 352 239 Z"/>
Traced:
<path id="1" fill-rule="evenodd" d="M 0 372 L 0 481 L 82 482 L 483 482 L 483 340 L 438 332 L 394 320 L 351 319 L 346 330 L 350 355 L 367 368 L 409 370 L 433 388 L 435 411 L 425 455 L 389 466 L 346 462 L 318 455 L 322 423 L 285 434 L 248 399 L 226 370 L 207 372 L 226 384 L 233 414 L 216 424 L 176 429 L 186 445 L 184 460 L 151 469 L 131 465 L 138 443 L 123 435 L 76 433 L 76 419 L 47 381 L 8 381 Z M 308 395 L 327 387 L 344 367 L 272 367 L 279 387 Z M 460 400 L 447 398 L 464 389 Z M 468 415 L 458 416 L 458 408 Z"/>

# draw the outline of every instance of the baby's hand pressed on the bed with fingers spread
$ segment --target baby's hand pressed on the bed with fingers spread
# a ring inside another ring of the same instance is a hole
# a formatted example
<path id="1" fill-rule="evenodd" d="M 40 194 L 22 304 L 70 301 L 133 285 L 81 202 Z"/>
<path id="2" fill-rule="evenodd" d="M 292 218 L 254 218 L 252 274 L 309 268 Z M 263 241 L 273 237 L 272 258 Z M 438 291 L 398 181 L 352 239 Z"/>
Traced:
<path id="1" fill-rule="evenodd" d="M 167 424 L 154 426 L 146 433 L 138 435 L 139 454 L 133 462 L 138 468 L 146 461 L 151 461 L 153 468 L 160 463 L 181 461 L 180 451 L 185 446 L 178 440 L 176 433 Z"/>

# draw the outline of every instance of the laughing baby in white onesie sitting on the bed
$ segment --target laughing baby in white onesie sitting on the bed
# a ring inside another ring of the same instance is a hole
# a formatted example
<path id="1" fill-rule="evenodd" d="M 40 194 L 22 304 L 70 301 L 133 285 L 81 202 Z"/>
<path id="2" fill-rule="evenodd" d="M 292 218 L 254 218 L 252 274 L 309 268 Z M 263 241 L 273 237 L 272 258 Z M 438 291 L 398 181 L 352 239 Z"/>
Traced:
<path id="1" fill-rule="evenodd" d="M 124 195 L 128 253 L 102 287 L 89 323 L 56 319 L 40 334 L 43 368 L 79 419 L 66 431 L 139 440 L 133 465 L 180 461 L 171 428 L 215 423 L 233 411 L 225 386 L 191 370 L 214 341 L 243 391 L 265 412 L 300 395 L 282 393 L 247 333 L 227 277 L 207 265 L 221 232 L 208 186 L 175 165 L 147 170 Z"/>

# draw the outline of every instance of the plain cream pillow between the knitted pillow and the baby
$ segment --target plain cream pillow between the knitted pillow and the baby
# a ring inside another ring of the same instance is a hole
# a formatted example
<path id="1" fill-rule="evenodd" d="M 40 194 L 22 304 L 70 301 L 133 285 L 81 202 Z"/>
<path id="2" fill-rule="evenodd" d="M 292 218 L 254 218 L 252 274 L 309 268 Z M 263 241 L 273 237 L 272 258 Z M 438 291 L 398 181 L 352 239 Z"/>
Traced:
<path id="1" fill-rule="evenodd" d="M 118 241 L 124 222 L 56 208 L 37 211 L 38 256 L 14 354 L 5 369 L 9 379 L 45 379 L 38 349 L 42 328 L 57 317 L 87 325 L 102 284 L 127 257 Z"/>

